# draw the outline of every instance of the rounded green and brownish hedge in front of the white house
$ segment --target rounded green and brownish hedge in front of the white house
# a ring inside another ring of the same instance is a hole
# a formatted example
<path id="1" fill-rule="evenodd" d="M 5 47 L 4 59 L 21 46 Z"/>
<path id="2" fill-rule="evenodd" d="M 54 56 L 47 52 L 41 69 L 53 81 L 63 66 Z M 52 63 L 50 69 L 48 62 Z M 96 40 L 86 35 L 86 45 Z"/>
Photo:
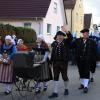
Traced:
<path id="1" fill-rule="evenodd" d="M 0 35 L 4 38 L 8 34 L 15 34 L 18 39 L 23 39 L 25 43 L 33 43 L 36 40 L 36 32 L 33 29 L 0 24 Z"/>

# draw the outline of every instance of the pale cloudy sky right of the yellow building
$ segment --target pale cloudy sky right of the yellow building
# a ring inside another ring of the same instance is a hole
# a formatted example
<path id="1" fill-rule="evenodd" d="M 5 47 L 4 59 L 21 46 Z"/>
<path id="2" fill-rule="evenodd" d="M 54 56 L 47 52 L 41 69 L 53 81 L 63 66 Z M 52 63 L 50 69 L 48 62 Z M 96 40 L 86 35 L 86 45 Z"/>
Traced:
<path id="1" fill-rule="evenodd" d="M 93 14 L 93 23 L 100 23 L 100 0 L 83 0 L 84 12 Z"/>

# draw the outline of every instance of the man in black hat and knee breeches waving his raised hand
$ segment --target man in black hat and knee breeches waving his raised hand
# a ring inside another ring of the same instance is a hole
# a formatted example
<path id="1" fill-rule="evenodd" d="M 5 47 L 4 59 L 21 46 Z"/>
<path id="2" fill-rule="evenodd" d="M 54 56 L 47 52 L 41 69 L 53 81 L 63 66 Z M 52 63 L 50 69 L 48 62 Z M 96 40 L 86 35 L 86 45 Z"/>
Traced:
<path id="1" fill-rule="evenodd" d="M 67 35 L 67 39 L 65 36 Z M 61 73 L 64 80 L 65 91 L 64 95 L 68 95 L 68 76 L 67 76 L 67 67 L 68 67 L 68 51 L 69 45 L 72 41 L 72 35 L 70 33 L 64 33 L 58 31 L 54 37 L 55 41 L 52 43 L 52 52 L 51 52 L 51 62 L 53 64 L 53 73 L 54 73 L 54 92 L 49 96 L 49 98 L 58 97 L 58 81 L 59 75 Z"/>

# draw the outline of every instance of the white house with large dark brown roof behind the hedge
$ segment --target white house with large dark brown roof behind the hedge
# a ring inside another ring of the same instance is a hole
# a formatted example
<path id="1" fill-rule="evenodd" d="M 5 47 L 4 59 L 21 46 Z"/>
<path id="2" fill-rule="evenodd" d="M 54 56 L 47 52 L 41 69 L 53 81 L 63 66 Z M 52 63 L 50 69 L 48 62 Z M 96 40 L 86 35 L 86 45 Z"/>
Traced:
<path id="1" fill-rule="evenodd" d="M 63 0 L 0 0 L 0 9 L 0 23 L 32 28 L 48 43 L 66 24 Z"/>

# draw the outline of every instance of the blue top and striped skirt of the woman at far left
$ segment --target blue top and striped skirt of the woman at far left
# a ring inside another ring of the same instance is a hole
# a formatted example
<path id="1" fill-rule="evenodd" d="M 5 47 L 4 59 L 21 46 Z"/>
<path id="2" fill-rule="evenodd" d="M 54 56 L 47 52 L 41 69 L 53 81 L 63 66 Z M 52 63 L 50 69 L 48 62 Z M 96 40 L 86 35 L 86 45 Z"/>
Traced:
<path id="1" fill-rule="evenodd" d="M 3 44 L 2 46 L 2 53 L 6 51 L 8 55 L 8 60 L 12 59 L 13 54 L 16 52 L 16 47 L 15 45 L 6 45 Z M 1 63 L 0 64 L 0 82 L 1 83 L 12 83 L 13 82 L 13 68 L 12 64 L 5 64 Z"/>

